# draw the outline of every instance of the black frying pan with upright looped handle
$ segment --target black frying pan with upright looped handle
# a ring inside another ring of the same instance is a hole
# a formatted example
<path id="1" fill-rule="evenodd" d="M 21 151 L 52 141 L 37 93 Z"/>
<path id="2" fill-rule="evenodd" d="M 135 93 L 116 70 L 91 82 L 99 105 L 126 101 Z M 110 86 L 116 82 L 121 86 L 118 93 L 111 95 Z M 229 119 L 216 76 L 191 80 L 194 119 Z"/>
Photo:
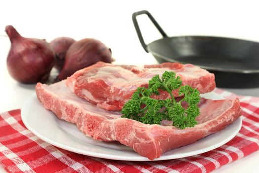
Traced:
<path id="1" fill-rule="evenodd" d="M 136 17 L 147 14 L 163 36 L 148 45 Z M 210 36 L 168 37 L 146 10 L 135 12 L 132 20 L 140 43 L 159 63 L 180 62 L 200 66 L 215 74 L 217 87 L 259 87 L 259 43 Z"/>

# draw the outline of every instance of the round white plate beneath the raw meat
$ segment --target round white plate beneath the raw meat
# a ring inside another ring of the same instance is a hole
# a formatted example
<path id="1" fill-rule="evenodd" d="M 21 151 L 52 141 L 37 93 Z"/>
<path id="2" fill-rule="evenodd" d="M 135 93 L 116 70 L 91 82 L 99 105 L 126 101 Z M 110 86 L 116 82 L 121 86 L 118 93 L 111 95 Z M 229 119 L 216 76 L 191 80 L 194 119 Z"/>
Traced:
<path id="1" fill-rule="evenodd" d="M 205 94 L 204 97 L 221 99 L 214 93 Z M 58 119 L 51 111 L 46 110 L 33 94 L 23 105 L 21 111 L 22 121 L 25 126 L 40 139 L 59 148 L 75 153 L 99 158 L 150 161 L 138 155 L 131 148 L 118 142 L 101 142 L 85 136 L 77 126 Z M 207 136 L 193 144 L 173 149 L 164 153 L 155 160 L 168 160 L 201 154 L 222 146 L 231 140 L 240 130 L 241 118 L 226 127 L 224 130 Z"/>

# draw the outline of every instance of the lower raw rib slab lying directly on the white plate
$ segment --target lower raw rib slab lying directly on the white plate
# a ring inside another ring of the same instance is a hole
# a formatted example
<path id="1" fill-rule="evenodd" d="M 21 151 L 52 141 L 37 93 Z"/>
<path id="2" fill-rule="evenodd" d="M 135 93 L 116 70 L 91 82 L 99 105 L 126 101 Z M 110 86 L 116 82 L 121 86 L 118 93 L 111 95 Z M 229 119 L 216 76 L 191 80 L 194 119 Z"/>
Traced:
<path id="1" fill-rule="evenodd" d="M 240 116 L 239 100 L 201 99 L 198 125 L 186 129 L 148 125 L 121 118 L 120 112 L 106 111 L 79 98 L 65 80 L 53 85 L 37 83 L 36 94 L 46 109 L 60 119 L 75 123 L 89 137 L 101 141 L 119 141 L 150 160 L 164 152 L 185 146 L 222 130 Z"/>

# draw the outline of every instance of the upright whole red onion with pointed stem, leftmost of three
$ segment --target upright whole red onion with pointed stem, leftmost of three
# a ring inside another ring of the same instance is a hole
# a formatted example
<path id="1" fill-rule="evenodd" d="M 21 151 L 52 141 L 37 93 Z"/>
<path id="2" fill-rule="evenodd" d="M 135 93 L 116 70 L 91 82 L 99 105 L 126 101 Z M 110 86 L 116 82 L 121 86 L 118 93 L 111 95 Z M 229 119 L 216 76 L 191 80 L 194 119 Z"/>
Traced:
<path id="1" fill-rule="evenodd" d="M 53 67 L 54 52 L 41 39 L 24 38 L 13 26 L 5 27 L 11 41 L 7 57 L 9 74 L 21 83 L 46 81 Z"/>

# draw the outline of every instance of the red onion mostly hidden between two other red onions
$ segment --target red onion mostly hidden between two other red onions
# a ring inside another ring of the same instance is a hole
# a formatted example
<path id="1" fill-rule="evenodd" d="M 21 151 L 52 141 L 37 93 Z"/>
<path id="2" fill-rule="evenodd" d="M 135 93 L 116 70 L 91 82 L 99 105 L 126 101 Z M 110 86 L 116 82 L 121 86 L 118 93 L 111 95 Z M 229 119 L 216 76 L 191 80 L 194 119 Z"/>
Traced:
<path id="1" fill-rule="evenodd" d="M 55 52 L 54 67 L 59 71 L 63 68 L 66 53 L 74 42 L 75 40 L 70 37 L 58 37 L 50 42 Z"/>

